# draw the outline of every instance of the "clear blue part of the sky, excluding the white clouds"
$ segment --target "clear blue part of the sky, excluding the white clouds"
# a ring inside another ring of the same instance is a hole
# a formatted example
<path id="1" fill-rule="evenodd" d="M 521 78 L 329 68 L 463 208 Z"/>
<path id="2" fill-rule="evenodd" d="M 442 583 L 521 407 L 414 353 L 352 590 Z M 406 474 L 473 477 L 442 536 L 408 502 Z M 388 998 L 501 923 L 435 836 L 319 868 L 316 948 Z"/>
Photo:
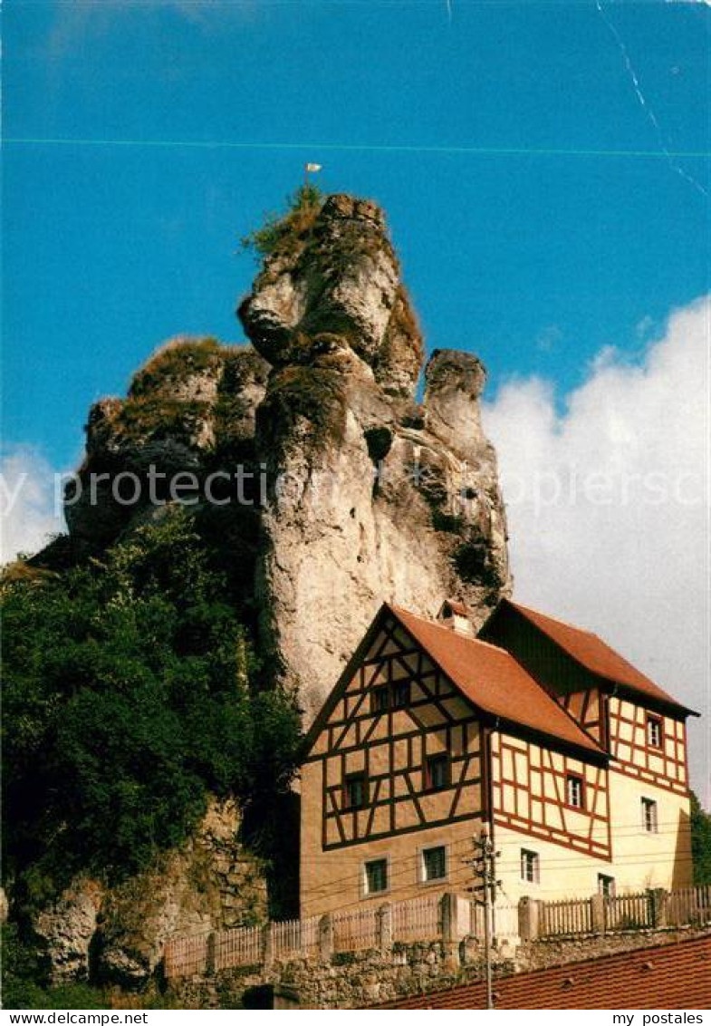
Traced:
<path id="1" fill-rule="evenodd" d="M 603 346 L 639 358 L 709 287 L 701 4 L 3 14 L 5 437 L 53 465 L 162 340 L 241 339 L 237 240 L 306 159 L 386 206 L 428 345 L 477 352 L 492 391 L 539 373 L 564 396 Z"/>

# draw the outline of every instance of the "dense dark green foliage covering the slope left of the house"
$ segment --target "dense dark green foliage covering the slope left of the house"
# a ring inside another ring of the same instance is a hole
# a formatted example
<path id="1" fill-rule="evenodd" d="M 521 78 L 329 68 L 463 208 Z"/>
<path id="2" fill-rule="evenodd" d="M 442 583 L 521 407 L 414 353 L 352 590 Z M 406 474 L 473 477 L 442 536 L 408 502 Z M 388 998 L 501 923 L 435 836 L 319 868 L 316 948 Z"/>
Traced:
<path id="1" fill-rule="evenodd" d="M 7 580 L 5 868 L 41 902 L 180 844 L 208 794 L 286 788 L 299 714 L 254 692 L 222 575 L 181 510 L 62 576 Z"/>

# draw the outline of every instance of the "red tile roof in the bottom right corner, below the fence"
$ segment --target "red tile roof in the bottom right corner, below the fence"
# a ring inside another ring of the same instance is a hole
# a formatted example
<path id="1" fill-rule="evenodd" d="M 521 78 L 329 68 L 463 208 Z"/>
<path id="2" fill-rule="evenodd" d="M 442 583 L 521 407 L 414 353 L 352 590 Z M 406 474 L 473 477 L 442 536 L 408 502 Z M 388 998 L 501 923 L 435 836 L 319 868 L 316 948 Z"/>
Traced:
<path id="1" fill-rule="evenodd" d="M 567 962 L 495 981 L 496 1009 L 708 1009 L 711 936 Z M 483 983 L 403 997 L 387 1009 L 483 1009 Z"/>

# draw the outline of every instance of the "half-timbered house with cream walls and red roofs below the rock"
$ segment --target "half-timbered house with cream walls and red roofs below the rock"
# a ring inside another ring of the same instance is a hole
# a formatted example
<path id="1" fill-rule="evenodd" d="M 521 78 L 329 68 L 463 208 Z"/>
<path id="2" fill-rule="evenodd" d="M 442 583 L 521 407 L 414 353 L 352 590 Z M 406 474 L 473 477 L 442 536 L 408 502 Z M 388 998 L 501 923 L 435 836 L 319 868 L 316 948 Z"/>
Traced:
<path id="1" fill-rule="evenodd" d="M 510 900 L 684 885 L 688 712 L 512 602 L 383 605 L 307 738 L 302 915 L 465 892 L 484 825 Z"/>

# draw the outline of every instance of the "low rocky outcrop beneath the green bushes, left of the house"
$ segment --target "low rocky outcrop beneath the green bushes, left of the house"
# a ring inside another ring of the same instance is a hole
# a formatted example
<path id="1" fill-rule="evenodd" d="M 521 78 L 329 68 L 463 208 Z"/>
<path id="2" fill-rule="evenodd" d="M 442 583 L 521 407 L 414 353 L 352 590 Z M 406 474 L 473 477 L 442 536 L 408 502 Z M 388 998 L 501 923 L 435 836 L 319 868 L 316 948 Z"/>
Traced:
<path id="1" fill-rule="evenodd" d="M 238 840 L 233 801 L 213 800 L 185 849 L 114 887 L 78 878 L 33 929 L 52 983 L 87 979 L 144 987 L 168 938 L 267 919 L 264 865 Z"/>

